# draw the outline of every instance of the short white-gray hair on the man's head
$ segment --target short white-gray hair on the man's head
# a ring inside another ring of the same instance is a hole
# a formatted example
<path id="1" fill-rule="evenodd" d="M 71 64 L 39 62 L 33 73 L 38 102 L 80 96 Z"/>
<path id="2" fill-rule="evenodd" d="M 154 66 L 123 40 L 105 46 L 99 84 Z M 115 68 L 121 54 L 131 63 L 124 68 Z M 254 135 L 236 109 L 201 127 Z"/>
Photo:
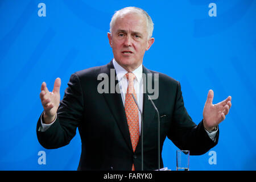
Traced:
<path id="1" fill-rule="evenodd" d="M 142 15 L 144 15 L 146 17 L 148 39 L 150 39 L 152 34 L 153 34 L 154 23 L 152 22 L 152 19 L 151 19 L 150 15 L 148 15 L 146 11 L 140 9 L 139 7 L 125 7 L 123 9 L 121 9 L 121 10 L 115 11 L 114 15 L 112 16 L 111 22 L 110 22 L 110 32 L 112 32 L 112 28 L 113 28 L 113 25 L 114 25 L 115 20 L 117 19 L 117 17 L 121 13 L 129 12 L 129 11 L 133 11 L 135 13 L 142 14 Z"/>

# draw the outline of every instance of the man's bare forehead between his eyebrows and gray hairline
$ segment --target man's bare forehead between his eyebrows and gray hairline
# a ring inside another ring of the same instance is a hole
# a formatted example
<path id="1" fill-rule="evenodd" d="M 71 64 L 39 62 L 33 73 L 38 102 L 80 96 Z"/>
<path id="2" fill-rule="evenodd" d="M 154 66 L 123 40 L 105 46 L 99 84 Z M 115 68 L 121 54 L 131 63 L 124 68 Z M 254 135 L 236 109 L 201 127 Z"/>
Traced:
<path id="1" fill-rule="evenodd" d="M 147 20 L 142 14 L 129 12 L 118 15 L 115 20 L 113 31 L 124 30 L 124 31 L 147 31 Z"/>

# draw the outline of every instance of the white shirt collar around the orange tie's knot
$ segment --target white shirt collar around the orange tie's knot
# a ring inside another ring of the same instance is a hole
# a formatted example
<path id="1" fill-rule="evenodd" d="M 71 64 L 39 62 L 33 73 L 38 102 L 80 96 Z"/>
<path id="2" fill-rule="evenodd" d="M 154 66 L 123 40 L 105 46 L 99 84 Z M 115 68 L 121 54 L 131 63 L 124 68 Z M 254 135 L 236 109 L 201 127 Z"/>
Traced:
<path id="1" fill-rule="evenodd" d="M 120 81 L 123 78 L 123 76 L 125 76 L 127 71 L 125 70 L 125 68 L 121 67 L 121 65 L 119 65 L 117 63 L 117 61 L 115 61 L 115 59 L 113 59 L 113 65 L 114 65 L 114 68 L 115 68 L 115 72 L 117 73 L 118 81 Z M 141 82 L 142 64 L 138 68 L 134 69 L 134 71 L 132 71 L 132 73 L 134 73 L 134 75 L 136 76 L 137 81 Z"/>

